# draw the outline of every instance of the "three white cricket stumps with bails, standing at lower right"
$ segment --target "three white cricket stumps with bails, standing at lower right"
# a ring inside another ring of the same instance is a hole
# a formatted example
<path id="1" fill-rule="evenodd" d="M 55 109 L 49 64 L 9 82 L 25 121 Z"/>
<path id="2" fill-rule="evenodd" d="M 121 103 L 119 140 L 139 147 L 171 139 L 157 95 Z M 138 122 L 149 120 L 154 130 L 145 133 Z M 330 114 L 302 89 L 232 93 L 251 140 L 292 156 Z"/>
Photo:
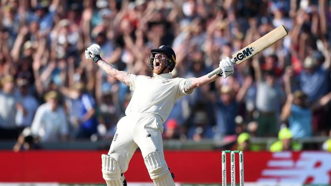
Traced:
<path id="1" fill-rule="evenodd" d="M 226 153 L 230 153 L 231 186 L 236 186 L 235 153 L 239 153 L 239 185 L 244 186 L 244 153 L 239 150 L 222 151 L 222 186 L 226 186 Z"/>

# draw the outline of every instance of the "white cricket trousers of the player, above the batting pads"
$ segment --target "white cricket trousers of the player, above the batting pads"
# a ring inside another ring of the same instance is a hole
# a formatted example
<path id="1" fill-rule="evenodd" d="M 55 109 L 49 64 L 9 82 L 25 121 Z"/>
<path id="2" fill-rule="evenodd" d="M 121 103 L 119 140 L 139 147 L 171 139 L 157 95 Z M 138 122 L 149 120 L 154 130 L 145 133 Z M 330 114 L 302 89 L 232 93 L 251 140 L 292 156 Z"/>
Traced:
<path id="1" fill-rule="evenodd" d="M 119 120 L 108 155 L 117 161 L 121 173 L 128 170 L 129 162 L 137 147 L 140 148 L 144 160 L 148 159 L 150 154 L 158 152 L 158 157 L 165 163 L 162 124 L 161 118 L 154 114 L 125 116 Z"/>

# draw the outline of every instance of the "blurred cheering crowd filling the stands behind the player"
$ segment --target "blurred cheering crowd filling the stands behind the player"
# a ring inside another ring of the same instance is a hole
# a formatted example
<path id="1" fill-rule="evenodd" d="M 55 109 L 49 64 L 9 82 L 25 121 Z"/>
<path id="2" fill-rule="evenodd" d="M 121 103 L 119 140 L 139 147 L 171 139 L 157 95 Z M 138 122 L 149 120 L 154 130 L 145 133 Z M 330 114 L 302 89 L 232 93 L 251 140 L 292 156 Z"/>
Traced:
<path id="1" fill-rule="evenodd" d="M 276 137 L 284 127 L 294 139 L 327 136 L 330 4 L 2 0 L 0 139 L 113 138 L 132 93 L 85 59 L 84 50 L 92 43 L 119 70 L 150 76 L 150 49 L 169 45 L 177 56 L 173 76 L 198 77 L 281 24 L 289 33 L 284 39 L 236 65 L 231 77 L 180 98 L 163 136 L 236 141 L 241 132 Z"/>

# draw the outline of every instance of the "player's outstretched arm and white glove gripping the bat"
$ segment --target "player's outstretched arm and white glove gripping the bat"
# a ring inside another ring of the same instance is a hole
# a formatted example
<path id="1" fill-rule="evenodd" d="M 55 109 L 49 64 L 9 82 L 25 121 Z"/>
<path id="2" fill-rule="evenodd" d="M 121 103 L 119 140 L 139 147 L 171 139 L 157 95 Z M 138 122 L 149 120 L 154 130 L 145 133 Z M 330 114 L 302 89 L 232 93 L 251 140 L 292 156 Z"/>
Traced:
<path id="1" fill-rule="evenodd" d="M 206 74 L 201 77 L 193 77 L 193 78 L 186 79 L 185 84 L 184 84 L 184 91 L 190 92 L 191 90 L 193 90 L 197 87 L 214 82 L 220 76 L 223 76 L 224 78 L 226 78 L 226 77 L 230 76 L 231 74 L 233 74 L 233 72 L 234 72 L 234 66 L 233 66 L 230 58 L 222 59 L 219 62 L 219 67 L 221 68 L 221 70 L 216 75 L 213 75 L 210 78 Z"/>

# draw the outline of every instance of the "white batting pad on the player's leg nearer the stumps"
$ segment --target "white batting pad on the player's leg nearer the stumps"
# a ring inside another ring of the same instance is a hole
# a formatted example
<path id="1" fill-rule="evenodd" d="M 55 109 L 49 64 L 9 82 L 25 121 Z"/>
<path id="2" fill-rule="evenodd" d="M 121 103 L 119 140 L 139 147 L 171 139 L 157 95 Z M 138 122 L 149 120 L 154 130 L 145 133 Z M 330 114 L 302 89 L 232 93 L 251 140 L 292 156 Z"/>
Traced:
<path id="1" fill-rule="evenodd" d="M 175 183 L 168 170 L 168 166 L 164 160 L 161 152 L 151 152 L 145 158 L 145 165 L 147 167 L 150 178 L 156 186 L 174 186 Z"/>

